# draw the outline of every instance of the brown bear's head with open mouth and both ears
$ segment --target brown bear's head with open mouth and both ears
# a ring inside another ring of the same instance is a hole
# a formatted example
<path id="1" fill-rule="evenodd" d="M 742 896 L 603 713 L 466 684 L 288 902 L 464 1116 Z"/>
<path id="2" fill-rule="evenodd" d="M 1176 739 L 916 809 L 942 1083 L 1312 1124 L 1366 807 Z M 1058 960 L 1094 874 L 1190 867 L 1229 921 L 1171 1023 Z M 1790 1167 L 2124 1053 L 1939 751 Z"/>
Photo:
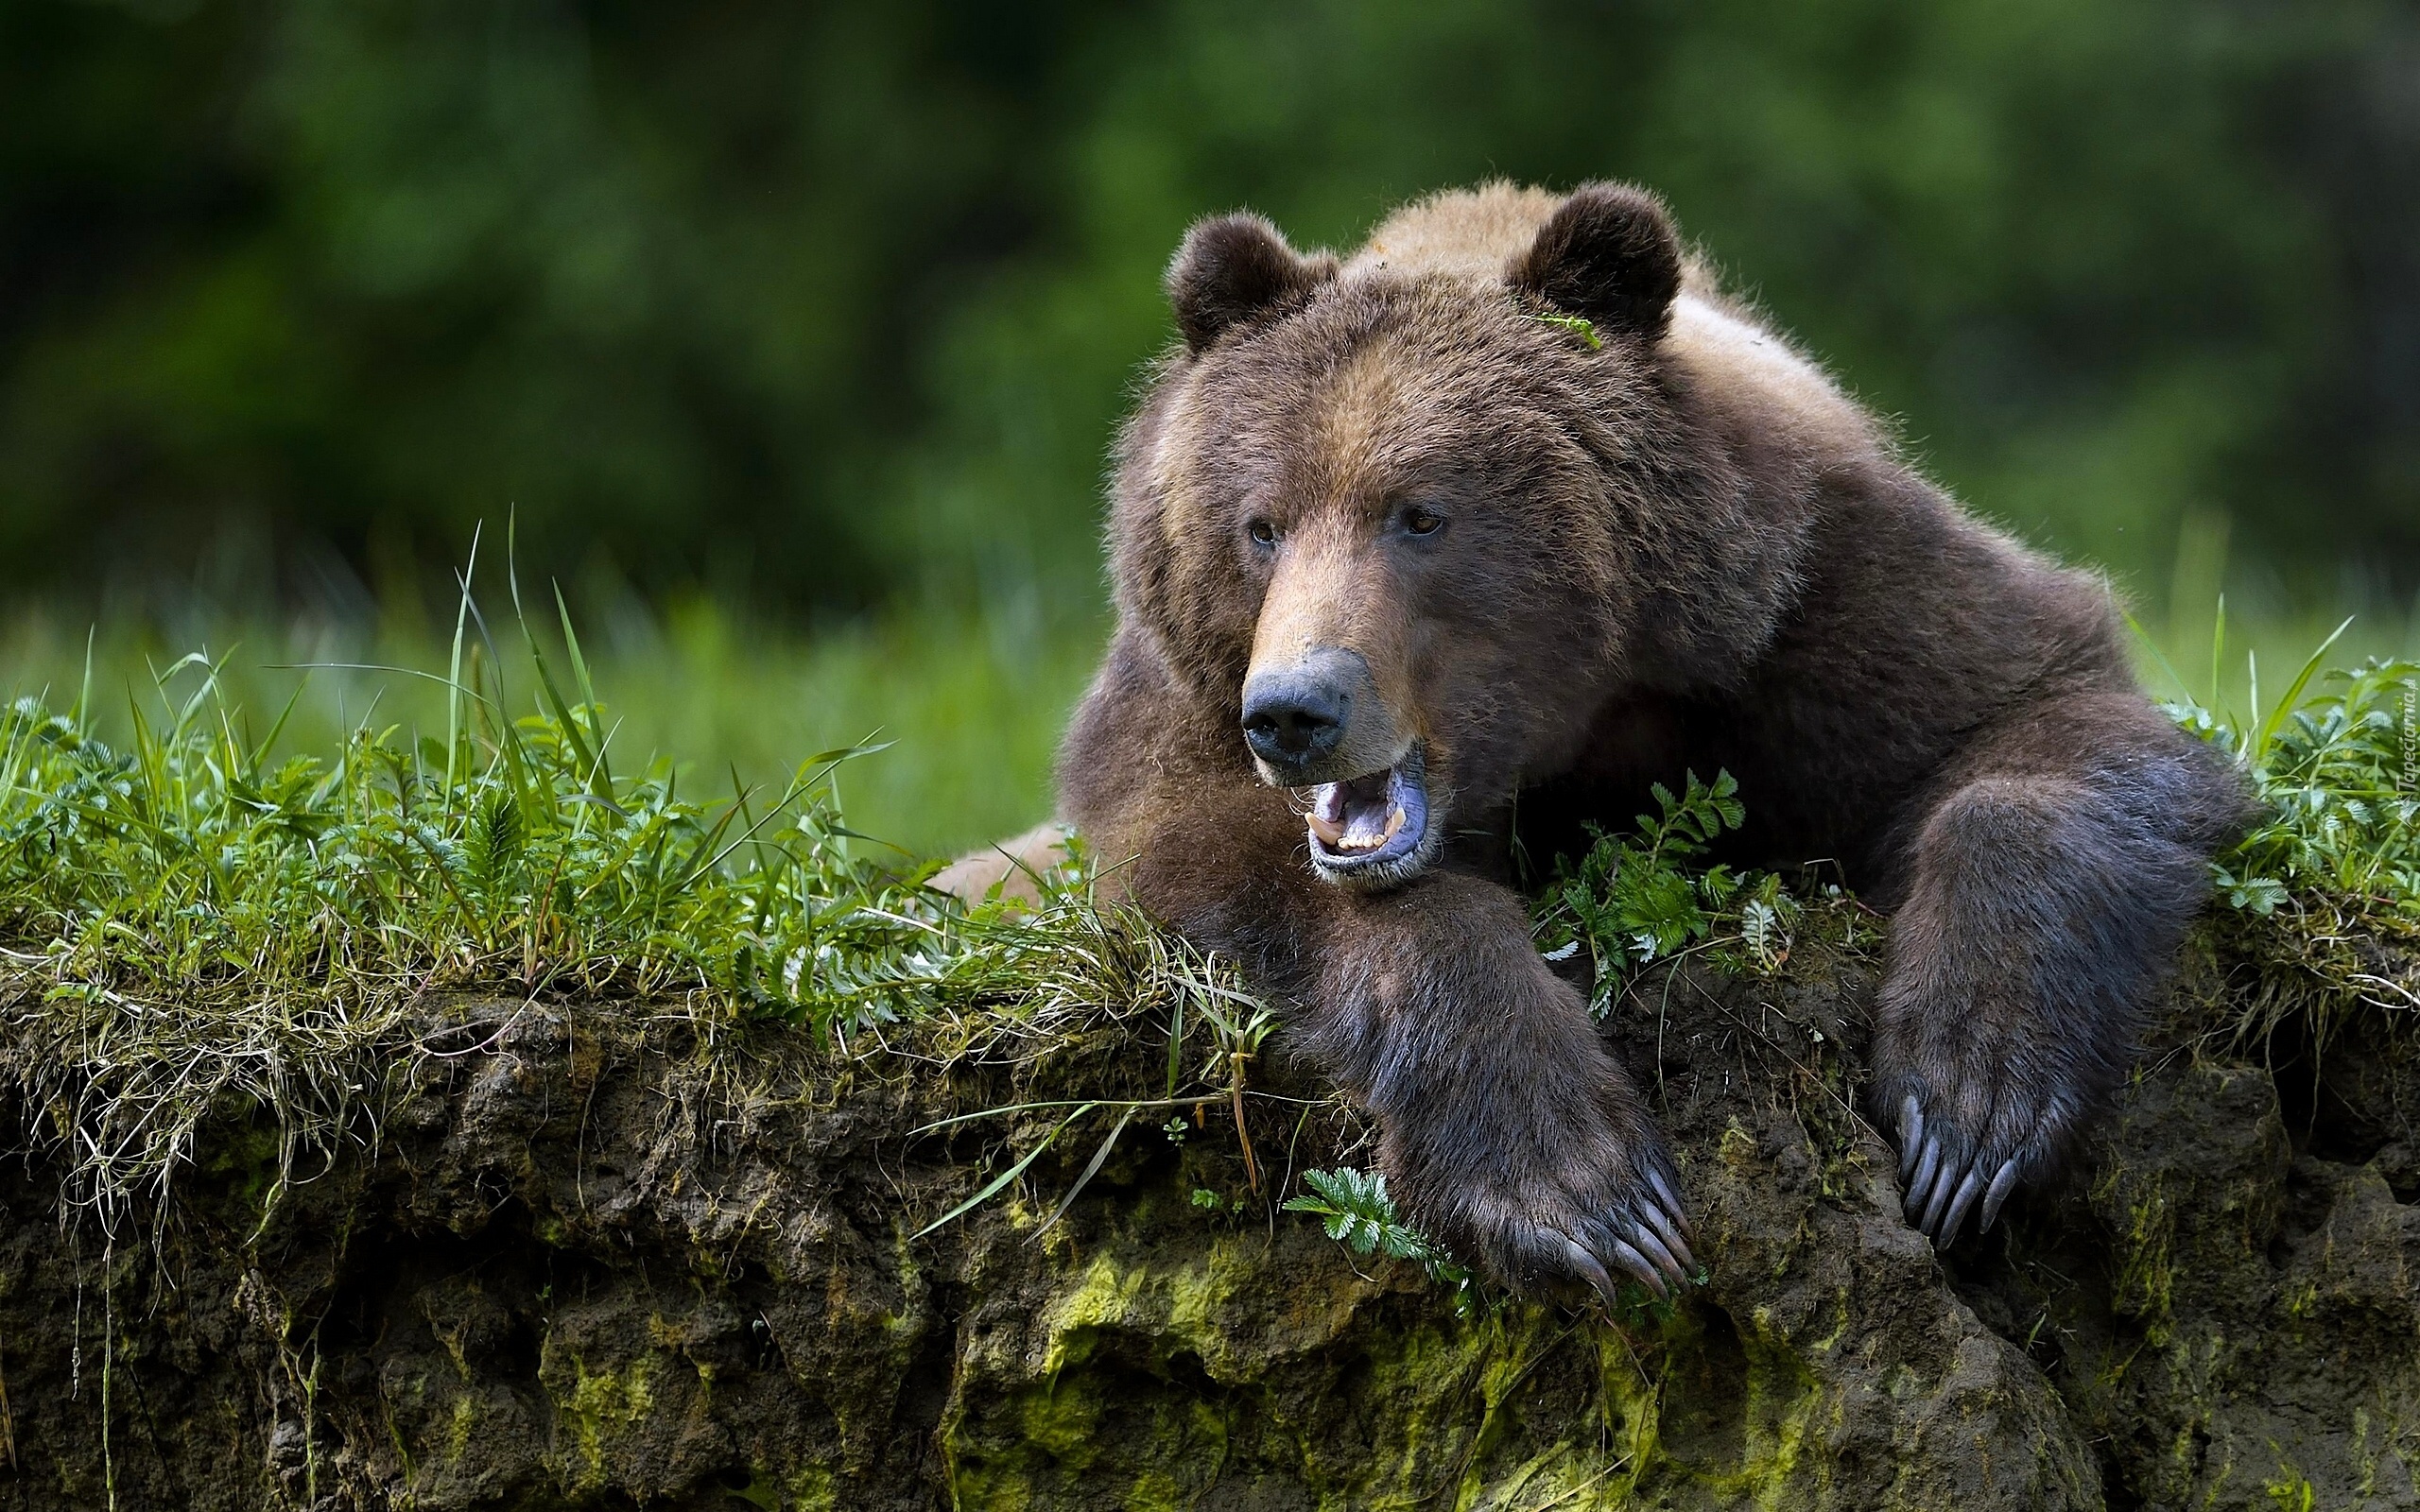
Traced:
<path id="1" fill-rule="evenodd" d="M 1256 215 L 1195 225 L 1166 276 L 1183 346 L 1120 445 L 1120 607 L 1336 883 L 1416 876 L 1612 694 L 1721 675 L 1752 631 L 1738 489 L 1660 353 L 1663 208 L 1459 198 L 1462 232 L 1389 254 L 1382 227 L 1350 264 Z"/>

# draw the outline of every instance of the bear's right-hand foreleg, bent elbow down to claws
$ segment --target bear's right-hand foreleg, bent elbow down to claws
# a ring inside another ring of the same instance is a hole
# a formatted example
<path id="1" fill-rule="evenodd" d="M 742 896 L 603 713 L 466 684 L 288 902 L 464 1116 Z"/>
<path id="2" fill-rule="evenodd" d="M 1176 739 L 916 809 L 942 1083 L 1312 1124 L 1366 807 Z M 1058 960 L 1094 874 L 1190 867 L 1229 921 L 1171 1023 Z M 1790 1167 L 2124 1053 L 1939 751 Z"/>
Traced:
<path id="1" fill-rule="evenodd" d="M 1992 745 L 1917 830 L 1876 1016 L 1876 1110 L 1941 1246 L 2057 1168 L 2122 1084 L 2238 803 L 2139 699 Z"/>

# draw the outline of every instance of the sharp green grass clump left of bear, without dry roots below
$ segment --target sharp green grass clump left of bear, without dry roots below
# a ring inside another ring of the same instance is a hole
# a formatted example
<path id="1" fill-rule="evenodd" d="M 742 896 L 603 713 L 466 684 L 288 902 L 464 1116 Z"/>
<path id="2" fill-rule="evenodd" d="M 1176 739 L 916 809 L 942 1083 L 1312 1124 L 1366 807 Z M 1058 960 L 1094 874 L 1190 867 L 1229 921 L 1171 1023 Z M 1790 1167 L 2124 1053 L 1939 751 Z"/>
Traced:
<path id="1" fill-rule="evenodd" d="M 934 910 L 883 876 L 820 752 L 779 793 L 697 801 L 668 762 L 615 772 L 593 699 L 506 719 L 479 665 L 448 738 L 363 723 L 271 760 L 186 658 L 111 748 L 75 711 L 0 716 L 0 936 L 48 997 L 709 992 L 852 1028 L 924 1002 Z M 552 687 L 549 687 L 552 694 Z"/>

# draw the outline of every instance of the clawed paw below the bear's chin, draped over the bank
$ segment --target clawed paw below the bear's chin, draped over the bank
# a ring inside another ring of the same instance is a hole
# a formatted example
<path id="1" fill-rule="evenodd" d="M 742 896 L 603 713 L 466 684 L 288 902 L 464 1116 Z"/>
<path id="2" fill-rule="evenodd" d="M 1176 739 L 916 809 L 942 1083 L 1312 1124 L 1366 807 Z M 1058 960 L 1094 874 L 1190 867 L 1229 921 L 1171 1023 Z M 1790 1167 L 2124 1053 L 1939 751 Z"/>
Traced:
<path id="1" fill-rule="evenodd" d="M 1549 1139 L 1515 1142 L 1525 1156 L 1457 1152 L 1445 1168 L 1413 1173 L 1413 1217 L 1525 1294 L 1585 1282 L 1612 1304 L 1617 1272 L 1658 1297 L 1687 1282 L 1696 1256 L 1663 1142 L 1624 1139 L 1609 1123 Z"/>

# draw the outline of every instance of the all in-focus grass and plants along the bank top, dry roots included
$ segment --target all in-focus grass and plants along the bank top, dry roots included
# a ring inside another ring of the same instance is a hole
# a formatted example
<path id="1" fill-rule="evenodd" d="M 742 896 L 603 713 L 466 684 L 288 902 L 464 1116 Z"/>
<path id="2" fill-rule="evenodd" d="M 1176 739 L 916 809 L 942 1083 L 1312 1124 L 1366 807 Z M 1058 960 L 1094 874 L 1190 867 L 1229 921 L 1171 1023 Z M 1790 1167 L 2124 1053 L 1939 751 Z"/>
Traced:
<path id="1" fill-rule="evenodd" d="M 624 757 L 569 617 L 547 607 L 542 634 L 506 622 L 511 653 L 465 607 L 443 660 L 385 675 L 411 687 L 409 723 L 356 699 L 348 726 L 307 743 L 305 694 L 254 719 L 227 656 L 169 663 L 106 735 L 94 675 L 0 711 L 0 1057 L 73 1135 L 87 1198 L 165 1183 L 230 1091 L 312 1137 L 341 1127 L 373 1096 L 373 1050 L 431 992 L 678 1002 L 835 1045 L 1087 1006 L 1169 1014 L 1171 1031 L 1232 1016 L 1215 963 L 1094 907 L 1082 868 L 1038 914 L 968 914 L 922 888 L 932 864 L 869 839 L 842 803 L 893 760 L 878 743 L 755 784 L 736 762 Z M 2268 803 L 2214 866 L 2222 929 L 2270 980 L 2238 1033 L 2420 1006 L 2420 980 L 2360 943 L 2420 936 L 2420 663 L 2318 668 L 2268 704 L 2251 680 L 2243 716 L 2171 706 Z M 888 687 L 912 702 L 905 680 Z M 305 755 L 281 755 L 293 745 Z M 1682 948 L 1779 968 L 1805 900 L 1696 864 L 1740 801 L 1754 793 L 1689 779 L 1660 818 L 1607 837 L 1549 883 L 1542 948 L 1588 948 L 1600 982 Z"/>

